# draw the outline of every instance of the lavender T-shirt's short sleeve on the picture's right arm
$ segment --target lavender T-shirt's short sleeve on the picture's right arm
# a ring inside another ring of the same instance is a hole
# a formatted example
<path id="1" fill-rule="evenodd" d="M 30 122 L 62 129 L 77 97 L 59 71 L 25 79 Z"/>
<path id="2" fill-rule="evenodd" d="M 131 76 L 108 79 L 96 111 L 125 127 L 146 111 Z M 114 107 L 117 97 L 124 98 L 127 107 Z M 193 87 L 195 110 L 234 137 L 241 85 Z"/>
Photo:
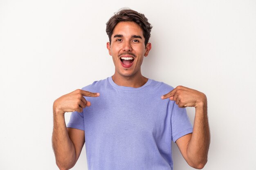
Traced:
<path id="1" fill-rule="evenodd" d="M 173 104 L 171 114 L 172 140 L 176 142 L 180 137 L 192 133 L 193 127 L 186 114 L 185 108 L 179 108 L 177 104 Z"/>

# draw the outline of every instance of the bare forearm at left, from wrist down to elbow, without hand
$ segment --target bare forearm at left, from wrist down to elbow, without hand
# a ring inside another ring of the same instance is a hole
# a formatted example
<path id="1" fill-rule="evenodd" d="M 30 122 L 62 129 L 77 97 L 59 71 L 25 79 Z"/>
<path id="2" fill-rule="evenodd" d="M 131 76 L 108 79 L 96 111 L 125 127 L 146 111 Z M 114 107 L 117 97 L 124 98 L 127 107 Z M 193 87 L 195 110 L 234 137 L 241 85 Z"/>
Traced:
<path id="1" fill-rule="evenodd" d="M 52 146 L 58 168 L 61 170 L 72 168 L 76 162 L 76 151 L 67 132 L 64 114 L 58 114 L 56 110 L 54 110 Z"/>

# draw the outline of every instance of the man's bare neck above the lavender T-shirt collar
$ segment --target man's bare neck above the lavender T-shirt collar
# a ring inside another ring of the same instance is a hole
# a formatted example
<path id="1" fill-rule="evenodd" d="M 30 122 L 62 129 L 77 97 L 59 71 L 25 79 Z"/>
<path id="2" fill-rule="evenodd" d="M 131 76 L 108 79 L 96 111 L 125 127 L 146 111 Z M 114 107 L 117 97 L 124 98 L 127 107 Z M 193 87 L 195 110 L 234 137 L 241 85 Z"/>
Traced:
<path id="1" fill-rule="evenodd" d="M 148 78 L 144 77 L 141 74 L 137 76 L 125 77 L 125 76 L 117 75 L 115 73 L 112 76 L 112 80 L 115 82 L 115 84 L 119 86 L 138 88 L 146 84 L 146 82 L 148 81 Z"/>

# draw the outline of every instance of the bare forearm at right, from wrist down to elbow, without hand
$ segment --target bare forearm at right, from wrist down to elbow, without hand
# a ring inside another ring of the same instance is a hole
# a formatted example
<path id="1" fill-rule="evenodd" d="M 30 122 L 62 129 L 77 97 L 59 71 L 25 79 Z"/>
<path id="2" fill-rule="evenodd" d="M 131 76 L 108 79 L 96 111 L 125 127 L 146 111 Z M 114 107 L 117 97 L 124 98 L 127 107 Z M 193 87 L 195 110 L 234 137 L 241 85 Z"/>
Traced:
<path id="1" fill-rule="evenodd" d="M 207 163 L 210 145 L 210 130 L 207 117 L 207 102 L 195 108 L 192 137 L 187 147 L 187 157 L 192 165 L 203 168 Z"/>

